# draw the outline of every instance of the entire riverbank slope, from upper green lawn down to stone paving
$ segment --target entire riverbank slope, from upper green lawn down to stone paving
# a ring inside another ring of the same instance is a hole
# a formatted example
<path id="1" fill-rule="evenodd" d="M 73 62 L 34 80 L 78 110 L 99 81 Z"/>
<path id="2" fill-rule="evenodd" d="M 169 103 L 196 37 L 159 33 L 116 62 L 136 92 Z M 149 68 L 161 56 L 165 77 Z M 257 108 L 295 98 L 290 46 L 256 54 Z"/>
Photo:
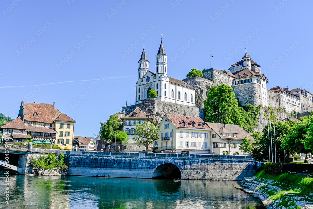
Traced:
<path id="1" fill-rule="evenodd" d="M 294 174 L 272 176 L 262 170 L 245 178 L 240 186 L 252 191 L 253 196 L 273 209 L 313 209 L 313 178 Z"/>

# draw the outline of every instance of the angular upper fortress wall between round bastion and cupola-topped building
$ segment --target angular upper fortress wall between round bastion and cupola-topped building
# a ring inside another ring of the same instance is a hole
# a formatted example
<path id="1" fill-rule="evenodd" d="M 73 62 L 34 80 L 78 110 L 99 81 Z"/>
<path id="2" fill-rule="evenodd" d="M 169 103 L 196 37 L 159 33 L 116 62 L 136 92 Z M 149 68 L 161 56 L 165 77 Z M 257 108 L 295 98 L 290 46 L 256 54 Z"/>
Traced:
<path id="1" fill-rule="evenodd" d="M 228 76 L 228 74 L 223 73 L 215 68 L 210 68 L 202 71 L 203 78 L 213 81 L 215 86 L 221 84 L 226 84 L 227 86 L 232 86 L 233 77 Z"/>

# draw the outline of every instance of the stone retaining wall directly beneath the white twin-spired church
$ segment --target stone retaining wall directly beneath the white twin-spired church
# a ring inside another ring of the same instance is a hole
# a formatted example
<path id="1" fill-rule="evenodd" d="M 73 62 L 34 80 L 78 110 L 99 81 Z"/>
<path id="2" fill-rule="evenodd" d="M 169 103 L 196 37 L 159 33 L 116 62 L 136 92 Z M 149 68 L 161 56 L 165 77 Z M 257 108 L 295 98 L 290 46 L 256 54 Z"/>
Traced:
<path id="1" fill-rule="evenodd" d="M 159 123 L 165 114 L 200 117 L 204 119 L 204 112 L 201 108 L 154 99 L 143 100 L 140 104 L 122 107 L 122 111 L 125 111 L 127 115 L 137 107 L 146 113 L 151 113 L 156 123 Z"/>

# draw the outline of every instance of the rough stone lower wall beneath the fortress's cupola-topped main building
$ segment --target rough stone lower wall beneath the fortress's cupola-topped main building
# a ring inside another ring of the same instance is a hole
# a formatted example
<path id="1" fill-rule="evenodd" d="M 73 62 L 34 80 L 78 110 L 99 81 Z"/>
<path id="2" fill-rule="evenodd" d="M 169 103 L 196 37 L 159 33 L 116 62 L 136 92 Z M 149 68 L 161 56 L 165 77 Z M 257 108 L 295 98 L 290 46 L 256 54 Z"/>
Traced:
<path id="1" fill-rule="evenodd" d="M 261 86 L 255 83 L 240 84 L 234 86 L 235 97 L 239 99 L 241 105 L 246 106 L 252 104 L 254 107 L 262 104 L 260 96 L 262 90 Z"/>

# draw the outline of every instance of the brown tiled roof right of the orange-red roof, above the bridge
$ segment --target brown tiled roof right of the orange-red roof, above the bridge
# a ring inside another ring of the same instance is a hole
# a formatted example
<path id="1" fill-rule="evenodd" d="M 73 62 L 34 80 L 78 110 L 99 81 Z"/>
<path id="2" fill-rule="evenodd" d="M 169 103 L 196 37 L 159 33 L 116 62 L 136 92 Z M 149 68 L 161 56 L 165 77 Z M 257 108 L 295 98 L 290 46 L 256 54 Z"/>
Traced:
<path id="1" fill-rule="evenodd" d="M 207 123 L 215 133 L 220 133 L 221 128 L 225 128 L 224 125 L 222 123 L 209 123 L 209 122 L 205 122 Z M 255 140 L 249 133 L 245 132 L 244 129 L 240 128 L 239 125 L 231 125 L 231 124 L 226 124 L 226 129 L 228 131 L 231 131 L 233 133 L 237 133 L 236 137 L 227 137 L 227 136 L 223 136 L 221 134 L 218 134 L 218 136 L 220 138 L 227 138 L 227 139 L 244 139 L 244 137 L 247 137 L 249 140 Z"/>

